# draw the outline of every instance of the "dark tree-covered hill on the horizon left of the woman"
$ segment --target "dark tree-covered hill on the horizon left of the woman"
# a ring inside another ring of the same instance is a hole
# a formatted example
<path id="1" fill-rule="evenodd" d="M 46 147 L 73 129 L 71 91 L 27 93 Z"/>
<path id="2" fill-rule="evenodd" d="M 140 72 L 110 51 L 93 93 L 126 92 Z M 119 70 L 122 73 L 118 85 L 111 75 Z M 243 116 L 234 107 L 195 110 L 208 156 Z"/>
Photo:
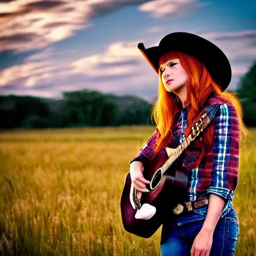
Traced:
<path id="1" fill-rule="evenodd" d="M 151 124 L 152 104 L 133 95 L 80 90 L 63 98 L 0 95 L 0 128 Z"/>

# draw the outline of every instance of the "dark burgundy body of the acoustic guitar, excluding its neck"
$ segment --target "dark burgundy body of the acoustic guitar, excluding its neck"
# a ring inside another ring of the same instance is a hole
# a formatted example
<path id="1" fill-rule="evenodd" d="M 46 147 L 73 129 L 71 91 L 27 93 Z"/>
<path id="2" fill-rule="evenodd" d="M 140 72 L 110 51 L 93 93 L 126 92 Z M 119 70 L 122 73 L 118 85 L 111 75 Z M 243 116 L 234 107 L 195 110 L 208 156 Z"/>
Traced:
<path id="1" fill-rule="evenodd" d="M 154 172 L 160 168 L 168 159 L 165 149 L 160 150 L 150 161 L 148 166 L 144 166 L 143 175 L 150 180 Z M 143 192 L 140 198 L 141 205 L 149 203 L 156 208 L 155 214 L 150 219 L 136 219 L 134 217 L 137 208 L 132 206 L 130 193 L 133 189 L 130 173 L 126 175 L 124 187 L 120 199 L 121 216 L 123 227 L 126 231 L 141 237 L 150 237 L 162 224 L 164 218 L 171 218 L 171 209 L 184 200 L 187 191 L 187 175 L 185 168 L 169 168 L 162 176 L 159 185 L 150 192 Z"/>

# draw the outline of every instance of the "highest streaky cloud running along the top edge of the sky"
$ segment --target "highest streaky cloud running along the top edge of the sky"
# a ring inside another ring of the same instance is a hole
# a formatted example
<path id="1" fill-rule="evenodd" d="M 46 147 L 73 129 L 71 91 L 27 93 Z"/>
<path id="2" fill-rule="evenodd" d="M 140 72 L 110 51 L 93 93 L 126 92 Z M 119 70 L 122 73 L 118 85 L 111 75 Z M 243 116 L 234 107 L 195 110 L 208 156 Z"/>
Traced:
<path id="1" fill-rule="evenodd" d="M 39 49 L 89 27 L 90 20 L 127 5 L 159 17 L 184 14 L 197 0 L 15 0 L 0 2 L 0 51 Z"/>

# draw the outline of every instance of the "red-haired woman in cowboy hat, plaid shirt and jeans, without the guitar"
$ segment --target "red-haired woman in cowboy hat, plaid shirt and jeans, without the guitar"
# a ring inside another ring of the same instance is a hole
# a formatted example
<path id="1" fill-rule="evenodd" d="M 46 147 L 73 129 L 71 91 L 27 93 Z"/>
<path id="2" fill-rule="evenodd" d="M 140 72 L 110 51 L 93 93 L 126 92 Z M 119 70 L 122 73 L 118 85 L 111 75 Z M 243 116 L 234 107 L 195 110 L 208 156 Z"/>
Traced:
<path id="1" fill-rule="evenodd" d="M 229 61 L 216 45 L 184 32 L 166 35 L 159 46 L 138 47 L 158 73 L 159 87 L 152 108 L 156 130 L 130 161 L 135 189 L 148 192 L 144 165 L 160 149 L 181 144 L 203 110 L 219 105 L 213 123 L 177 160 L 187 170 L 187 200 L 193 210 L 164 219 L 161 254 L 233 255 L 239 222 L 232 200 L 240 133 L 246 128 L 238 99 L 223 92 L 231 79 Z"/>

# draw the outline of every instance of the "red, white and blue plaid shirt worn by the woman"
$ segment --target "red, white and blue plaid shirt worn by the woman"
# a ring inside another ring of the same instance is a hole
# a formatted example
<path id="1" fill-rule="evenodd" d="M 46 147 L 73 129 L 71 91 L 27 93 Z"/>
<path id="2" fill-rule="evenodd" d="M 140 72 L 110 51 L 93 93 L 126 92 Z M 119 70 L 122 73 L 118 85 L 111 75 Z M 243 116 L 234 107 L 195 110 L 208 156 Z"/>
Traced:
<path id="1" fill-rule="evenodd" d="M 231 206 L 234 190 L 238 181 L 239 163 L 239 125 L 235 108 L 223 102 L 216 96 L 211 97 L 205 104 L 219 104 L 218 111 L 214 118 L 213 148 L 206 151 L 199 164 L 187 169 L 188 174 L 188 197 L 194 201 L 198 196 L 210 193 L 216 194 L 228 203 L 223 209 L 227 211 Z M 175 123 L 172 134 L 176 145 L 182 143 L 185 138 L 187 109 L 180 110 L 180 116 Z M 158 130 L 148 138 L 144 145 L 137 152 L 132 161 L 142 163 L 151 160 L 157 139 Z M 180 155 L 182 166 L 190 164 L 198 152 L 189 147 Z"/>

